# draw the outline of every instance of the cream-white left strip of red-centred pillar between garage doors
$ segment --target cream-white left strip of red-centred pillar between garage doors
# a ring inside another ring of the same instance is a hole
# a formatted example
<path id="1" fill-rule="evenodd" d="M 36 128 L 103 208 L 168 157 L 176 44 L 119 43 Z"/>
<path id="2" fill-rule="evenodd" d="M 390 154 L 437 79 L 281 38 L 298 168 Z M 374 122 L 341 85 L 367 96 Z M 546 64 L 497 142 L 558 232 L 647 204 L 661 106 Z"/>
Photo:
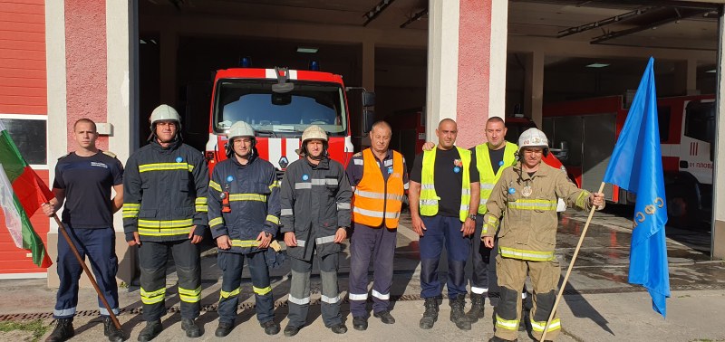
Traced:
<path id="1" fill-rule="evenodd" d="M 459 71 L 459 0 L 430 0 L 426 140 L 438 142 L 441 119 L 456 119 Z"/>

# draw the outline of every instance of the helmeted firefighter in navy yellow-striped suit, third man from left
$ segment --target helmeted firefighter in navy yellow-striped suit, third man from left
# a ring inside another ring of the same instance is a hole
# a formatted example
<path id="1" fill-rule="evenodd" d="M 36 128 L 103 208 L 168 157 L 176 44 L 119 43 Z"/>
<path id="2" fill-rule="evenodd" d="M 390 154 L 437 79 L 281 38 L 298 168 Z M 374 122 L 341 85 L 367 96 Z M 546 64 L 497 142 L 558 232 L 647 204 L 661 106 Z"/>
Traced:
<path id="1" fill-rule="evenodd" d="M 217 240 L 218 265 L 223 271 L 216 335 L 225 337 L 234 328 L 245 259 L 255 292 L 256 318 L 267 335 L 275 335 L 279 324 L 274 320 L 266 263 L 266 249 L 279 225 L 275 166 L 258 157 L 255 131 L 247 122 L 232 125 L 227 137 L 227 160 L 214 168 L 209 182 L 209 228 Z"/>

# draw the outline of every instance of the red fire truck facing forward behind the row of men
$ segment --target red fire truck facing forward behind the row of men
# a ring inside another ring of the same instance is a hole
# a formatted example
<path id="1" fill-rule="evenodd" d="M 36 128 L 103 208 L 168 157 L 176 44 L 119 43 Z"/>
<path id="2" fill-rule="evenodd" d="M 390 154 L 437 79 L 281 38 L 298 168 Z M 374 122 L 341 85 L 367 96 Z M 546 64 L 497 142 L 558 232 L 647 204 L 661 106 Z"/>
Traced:
<path id="1" fill-rule="evenodd" d="M 285 68 L 235 68 L 217 71 L 211 94 L 206 157 L 211 172 L 226 159 L 227 129 L 237 121 L 255 128 L 259 156 L 279 175 L 299 158 L 304 128 L 317 125 L 328 135 L 330 157 L 343 165 L 353 156 L 353 128 L 343 77 L 321 71 Z M 362 91 L 361 108 L 374 105 L 374 94 Z M 354 117 L 363 127 L 372 125 L 372 110 Z"/>

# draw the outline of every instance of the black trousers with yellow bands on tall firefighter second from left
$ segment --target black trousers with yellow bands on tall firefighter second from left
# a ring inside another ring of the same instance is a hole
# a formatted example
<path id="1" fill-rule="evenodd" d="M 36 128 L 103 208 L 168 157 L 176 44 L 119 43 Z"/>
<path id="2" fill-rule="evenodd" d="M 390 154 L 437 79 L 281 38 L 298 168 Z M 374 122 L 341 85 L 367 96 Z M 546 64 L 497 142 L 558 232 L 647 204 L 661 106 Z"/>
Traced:
<path id="1" fill-rule="evenodd" d="M 169 252 L 179 275 L 182 318 L 198 318 L 201 299 L 201 265 L 198 245 L 184 239 L 169 242 L 143 241 L 139 246 L 143 319 L 157 320 L 166 314 L 166 269 Z"/>

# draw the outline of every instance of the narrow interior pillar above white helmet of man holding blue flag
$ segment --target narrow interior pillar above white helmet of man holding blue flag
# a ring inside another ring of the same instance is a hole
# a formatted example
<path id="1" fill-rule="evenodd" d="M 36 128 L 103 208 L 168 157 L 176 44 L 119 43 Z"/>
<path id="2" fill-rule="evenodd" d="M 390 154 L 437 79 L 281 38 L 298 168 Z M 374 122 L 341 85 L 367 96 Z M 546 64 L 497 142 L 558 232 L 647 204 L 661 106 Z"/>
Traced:
<path id="1" fill-rule="evenodd" d="M 524 114 L 541 127 L 541 111 L 544 105 L 544 53 L 529 52 L 525 61 Z"/>

